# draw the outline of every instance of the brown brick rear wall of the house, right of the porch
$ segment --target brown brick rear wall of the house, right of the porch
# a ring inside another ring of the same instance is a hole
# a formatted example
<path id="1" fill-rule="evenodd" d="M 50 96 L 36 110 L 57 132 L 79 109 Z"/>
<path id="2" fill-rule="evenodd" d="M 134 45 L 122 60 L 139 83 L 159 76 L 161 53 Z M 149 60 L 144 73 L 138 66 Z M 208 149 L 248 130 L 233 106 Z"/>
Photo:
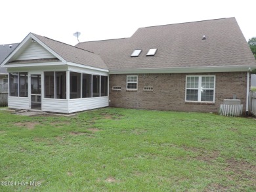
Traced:
<path id="1" fill-rule="evenodd" d="M 129 75 L 129 74 L 127 74 Z M 138 74 L 138 90 L 126 90 L 127 75 L 110 75 L 110 106 L 170 111 L 218 112 L 223 99 L 236 95 L 246 104 L 246 72 Z M 185 102 L 186 75 L 216 75 L 215 103 Z M 121 90 L 112 90 L 121 86 Z M 153 86 L 153 91 L 143 90 Z"/>

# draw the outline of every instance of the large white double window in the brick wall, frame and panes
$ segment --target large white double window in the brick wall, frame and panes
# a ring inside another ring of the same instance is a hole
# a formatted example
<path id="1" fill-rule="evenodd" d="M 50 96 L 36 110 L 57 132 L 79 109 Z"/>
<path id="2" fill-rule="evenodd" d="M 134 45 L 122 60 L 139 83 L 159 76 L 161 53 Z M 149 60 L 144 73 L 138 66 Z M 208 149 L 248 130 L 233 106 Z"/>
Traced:
<path id="1" fill-rule="evenodd" d="M 214 102 L 215 75 L 186 76 L 186 101 Z"/>

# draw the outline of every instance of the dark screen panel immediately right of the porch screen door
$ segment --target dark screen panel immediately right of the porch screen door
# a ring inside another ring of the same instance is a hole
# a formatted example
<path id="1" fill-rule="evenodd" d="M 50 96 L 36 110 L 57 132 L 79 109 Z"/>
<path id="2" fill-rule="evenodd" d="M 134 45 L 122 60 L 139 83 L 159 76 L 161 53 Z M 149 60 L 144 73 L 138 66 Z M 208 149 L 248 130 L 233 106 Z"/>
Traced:
<path id="1" fill-rule="evenodd" d="M 45 98 L 54 99 L 54 72 L 45 72 Z"/>

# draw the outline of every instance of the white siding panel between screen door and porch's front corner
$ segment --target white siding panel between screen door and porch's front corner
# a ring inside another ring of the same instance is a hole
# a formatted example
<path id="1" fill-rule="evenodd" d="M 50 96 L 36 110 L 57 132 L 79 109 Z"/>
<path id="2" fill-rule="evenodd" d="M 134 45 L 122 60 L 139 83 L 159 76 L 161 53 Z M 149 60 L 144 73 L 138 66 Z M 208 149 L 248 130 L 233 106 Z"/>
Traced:
<path id="1" fill-rule="evenodd" d="M 42 111 L 68 113 L 68 100 L 43 99 Z"/>

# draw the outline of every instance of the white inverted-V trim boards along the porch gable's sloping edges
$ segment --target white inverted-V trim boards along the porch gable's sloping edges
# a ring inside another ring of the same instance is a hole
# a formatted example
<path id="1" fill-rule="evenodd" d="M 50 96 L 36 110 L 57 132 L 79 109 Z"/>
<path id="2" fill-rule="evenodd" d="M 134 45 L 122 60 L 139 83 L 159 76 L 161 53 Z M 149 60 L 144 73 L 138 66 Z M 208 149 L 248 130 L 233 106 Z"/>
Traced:
<path id="1" fill-rule="evenodd" d="M 11 65 L 5 65 L 7 64 L 11 58 L 13 58 L 17 52 L 24 47 L 28 41 L 32 41 L 32 39 L 34 39 L 37 43 L 39 43 L 43 48 L 45 48 L 46 50 L 48 50 L 49 52 L 51 52 L 51 54 L 53 54 L 54 56 L 56 56 L 56 58 L 58 58 L 60 61 L 62 61 L 64 64 L 66 64 L 66 60 L 64 60 L 64 58 L 62 58 L 61 56 L 59 56 L 56 52 L 54 52 L 51 48 L 47 47 L 47 45 L 45 45 L 42 41 L 40 41 L 37 37 L 35 37 L 35 35 L 33 35 L 32 33 L 29 33 L 27 35 L 27 37 L 25 37 L 25 39 L 11 52 L 11 54 L 3 61 L 2 66 L 5 67 L 10 67 Z"/>

